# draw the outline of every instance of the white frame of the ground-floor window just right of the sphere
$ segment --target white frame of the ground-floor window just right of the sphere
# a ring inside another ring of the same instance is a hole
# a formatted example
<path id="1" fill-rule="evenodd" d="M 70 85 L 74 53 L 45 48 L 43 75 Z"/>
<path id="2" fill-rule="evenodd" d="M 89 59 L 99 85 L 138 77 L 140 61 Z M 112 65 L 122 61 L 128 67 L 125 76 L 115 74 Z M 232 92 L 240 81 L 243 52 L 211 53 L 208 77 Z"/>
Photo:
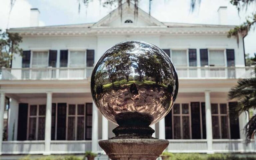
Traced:
<path id="1" fill-rule="evenodd" d="M 191 127 L 191 107 L 189 102 L 184 103 L 176 103 L 180 105 L 180 114 L 174 114 L 174 109 L 172 109 L 172 139 L 174 139 L 174 116 L 180 117 L 180 133 L 181 133 L 181 139 L 183 139 L 183 126 L 182 126 L 182 116 L 188 116 L 189 117 L 189 137 L 192 139 L 192 127 Z M 182 104 L 188 104 L 188 114 L 182 113 Z"/>

